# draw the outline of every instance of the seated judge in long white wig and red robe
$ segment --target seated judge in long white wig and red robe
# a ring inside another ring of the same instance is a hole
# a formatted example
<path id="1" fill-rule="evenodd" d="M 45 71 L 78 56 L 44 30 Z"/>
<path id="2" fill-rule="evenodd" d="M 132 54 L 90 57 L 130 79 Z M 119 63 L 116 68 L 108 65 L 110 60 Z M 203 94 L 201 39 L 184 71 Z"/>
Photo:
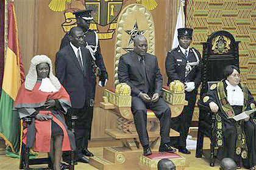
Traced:
<path id="1" fill-rule="evenodd" d="M 74 134 L 68 130 L 63 119 L 69 107 L 69 95 L 53 75 L 51 60 L 46 55 L 34 56 L 13 104 L 20 118 L 30 120 L 23 130 L 23 153 L 30 148 L 48 152 L 52 168 L 63 169 L 60 164 L 62 151 L 76 148 Z M 27 158 L 22 160 L 23 168 L 29 168 L 25 160 Z"/>

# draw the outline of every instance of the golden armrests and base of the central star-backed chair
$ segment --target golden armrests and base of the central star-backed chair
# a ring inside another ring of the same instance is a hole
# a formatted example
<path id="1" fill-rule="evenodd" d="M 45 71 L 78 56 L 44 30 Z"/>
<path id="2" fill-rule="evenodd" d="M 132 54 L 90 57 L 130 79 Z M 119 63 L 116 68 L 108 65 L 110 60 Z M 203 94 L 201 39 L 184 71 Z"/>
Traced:
<path id="1" fill-rule="evenodd" d="M 112 109 L 113 112 L 118 115 L 116 129 L 105 129 L 105 133 L 113 138 L 121 140 L 124 147 L 137 150 L 140 148 L 140 142 L 133 122 L 133 114 L 131 110 L 132 97 L 130 92 L 130 86 L 126 83 L 118 84 L 115 89 L 105 89 L 103 97 L 104 102 L 101 103 L 101 107 L 104 109 Z M 172 117 L 177 117 L 182 112 L 183 106 L 187 104 L 187 101 L 185 101 L 183 83 L 174 81 L 169 87 L 164 87 L 163 98 L 171 109 Z M 160 141 L 159 121 L 152 110 L 148 110 L 147 115 L 149 146 L 154 148 Z M 179 133 L 171 129 L 170 135 L 179 136 Z"/>

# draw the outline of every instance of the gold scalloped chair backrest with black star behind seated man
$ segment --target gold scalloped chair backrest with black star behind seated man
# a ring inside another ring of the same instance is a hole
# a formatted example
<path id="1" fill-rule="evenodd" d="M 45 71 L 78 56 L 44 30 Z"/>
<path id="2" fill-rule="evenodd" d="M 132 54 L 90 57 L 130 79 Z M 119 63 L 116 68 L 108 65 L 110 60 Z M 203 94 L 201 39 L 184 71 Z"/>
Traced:
<path id="1" fill-rule="evenodd" d="M 154 20 L 143 5 L 130 4 L 118 16 L 115 50 L 115 84 L 118 81 L 118 63 L 122 55 L 133 50 L 133 39 L 143 35 L 148 40 L 148 53 L 155 53 L 155 26 Z"/>

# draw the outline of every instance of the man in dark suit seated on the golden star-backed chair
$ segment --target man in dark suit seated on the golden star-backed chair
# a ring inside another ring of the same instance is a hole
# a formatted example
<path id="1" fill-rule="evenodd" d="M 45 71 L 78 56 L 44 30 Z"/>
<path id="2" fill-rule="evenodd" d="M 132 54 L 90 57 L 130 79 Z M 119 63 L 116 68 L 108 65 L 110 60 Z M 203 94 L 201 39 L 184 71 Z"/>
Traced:
<path id="1" fill-rule="evenodd" d="M 160 120 L 160 152 L 175 152 L 171 148 L 169 131 L 171 112 L 163 98 L 162 75 L 158 68 L 157 58 L 146 53 L 148 42 L 144 36 L 136 36 L 134 50 L 123 55 L 118 65 L 120 83 L 128 84 L 132 89 L 132 113 L 135 126 L 143 146 L 143 154 L 151 155 L 149 137 L 146 129 L 147 109 L 154 110 Z"/>

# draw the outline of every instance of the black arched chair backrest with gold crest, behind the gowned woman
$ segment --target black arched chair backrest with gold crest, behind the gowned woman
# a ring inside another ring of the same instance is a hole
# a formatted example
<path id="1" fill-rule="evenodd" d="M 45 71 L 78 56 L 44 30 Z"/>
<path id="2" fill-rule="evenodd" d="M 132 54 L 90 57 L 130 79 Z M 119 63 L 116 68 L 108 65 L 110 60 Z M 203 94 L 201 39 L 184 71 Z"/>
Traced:
<path id="1" fill-rule="evenodd" d="M 223 30 L 213 32 L 208 37 L 203 44 L 201 94 L 208 91 L 211 83 L 223 78 L 222 72 L 226 66 L 239 67 L 238 43 L 231 33 Z"/>

